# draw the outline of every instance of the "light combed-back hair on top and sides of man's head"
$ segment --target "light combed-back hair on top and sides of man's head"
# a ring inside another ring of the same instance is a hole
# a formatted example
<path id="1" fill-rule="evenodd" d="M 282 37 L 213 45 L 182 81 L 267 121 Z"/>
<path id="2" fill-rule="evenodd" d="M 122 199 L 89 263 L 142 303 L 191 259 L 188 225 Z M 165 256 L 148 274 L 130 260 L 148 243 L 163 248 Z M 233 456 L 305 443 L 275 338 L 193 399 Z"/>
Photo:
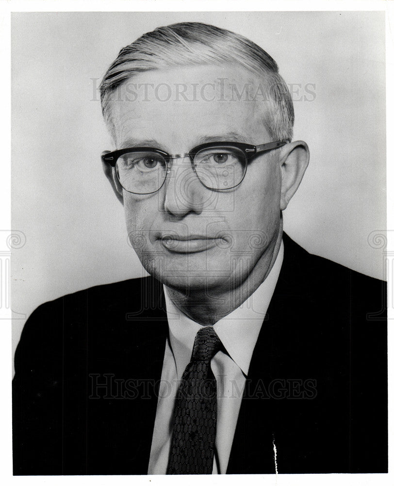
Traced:
<path id="1" fill-rule="evenodd" d="M 274 59 L 243 35 L 199 22 L 158 27 L 120 50 L 100 84 L 104 120 L 110 126 L 110 95 L 134 74 L 195 65 L 239 65 L 257 75 L 268 113 L 262 122 L 272 140 L 291 141 L 294 107 Z"/>

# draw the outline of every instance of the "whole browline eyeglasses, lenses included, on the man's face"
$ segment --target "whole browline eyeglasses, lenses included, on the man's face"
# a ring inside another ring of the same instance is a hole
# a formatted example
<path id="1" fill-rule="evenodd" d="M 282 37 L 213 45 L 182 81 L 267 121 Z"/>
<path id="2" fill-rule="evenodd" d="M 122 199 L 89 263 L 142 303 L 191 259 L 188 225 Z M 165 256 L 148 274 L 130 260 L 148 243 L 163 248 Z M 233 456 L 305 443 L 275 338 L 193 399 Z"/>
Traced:
<path id="1" fill-rule="evenodd" d="M 210 142 L 198 145 L 187 154 L 167 154 L 149 147 L 133 147 L 104 152 L 103 162 L 115 167 L 120 185 L 133 194 L 152 194 L 163 186 L 170 162 L 190 157 L 193 171 L 203 186 L 214 191 L 232 189 L 243 181 L 247 163 L 263 152 L 288 143 L 276 141 L 262 145 L 239 142 Z"/>

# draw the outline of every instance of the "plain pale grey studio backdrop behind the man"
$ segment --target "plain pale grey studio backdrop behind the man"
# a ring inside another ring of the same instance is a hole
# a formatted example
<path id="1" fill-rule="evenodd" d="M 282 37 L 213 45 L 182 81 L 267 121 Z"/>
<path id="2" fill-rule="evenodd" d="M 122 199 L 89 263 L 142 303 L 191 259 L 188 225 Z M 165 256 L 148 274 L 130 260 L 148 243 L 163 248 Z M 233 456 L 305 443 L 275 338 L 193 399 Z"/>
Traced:
<path id="1" fill-rule="evenodd" d="M 102 174 L 100 153 L 114 147 L 94 79 L 121 47 L 178 21 L 246 35 L 301 85 L 294 139 L 309 144 L 311 162 L 285 230 L 312 253 L 383 277 L 368 244 L 385 228 L 383 12 L 14 13 L 12 227 L 26 236 L 12 260 L 14 347 L 42 302 L 145 274 Z"/>

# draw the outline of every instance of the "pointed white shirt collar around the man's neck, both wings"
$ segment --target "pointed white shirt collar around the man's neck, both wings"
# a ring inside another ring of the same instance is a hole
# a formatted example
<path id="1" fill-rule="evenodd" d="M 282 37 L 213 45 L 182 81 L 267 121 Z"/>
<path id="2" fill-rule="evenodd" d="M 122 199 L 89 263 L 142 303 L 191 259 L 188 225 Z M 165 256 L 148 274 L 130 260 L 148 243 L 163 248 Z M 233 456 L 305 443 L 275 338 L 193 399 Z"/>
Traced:
<path id="1" fill-rule="evenodd" d="M 247 375 L 253 349 L 256 345 L 271 297 L 278 281 L 283 261 L 283 241 L 270 273 L 263 283 L 237 309 L 230 312 L 213 325 L 230 358 Z M 164 287 L 167 309 L 170 347 L 174 354 L 178 379 L 189 364 L 194 340 L 201 324 L 193 321 L 181 312 L 168 296 Z"/>

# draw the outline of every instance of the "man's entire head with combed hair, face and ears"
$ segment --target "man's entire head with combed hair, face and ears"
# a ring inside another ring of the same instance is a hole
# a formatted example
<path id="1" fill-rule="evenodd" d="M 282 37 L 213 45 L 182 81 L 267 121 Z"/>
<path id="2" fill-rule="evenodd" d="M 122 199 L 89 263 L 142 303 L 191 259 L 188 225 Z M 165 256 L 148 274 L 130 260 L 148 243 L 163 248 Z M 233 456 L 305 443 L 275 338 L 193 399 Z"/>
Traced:
<path id="1" fill-rule="evenodd" d="M 232 290 L 252 275 L 252 287 L 261 283 L 279 249 L 281 210 L 308 164 L 306 145 L 291 143 L 293 104 L 275 61 L 217 27 L 161 27 L 120 51 L 101 101 L 116 149 L 155 149 L 122 156 L 122 167 L 104 163 L 147 271 L 184 292 Z M 242 181 L 227 145 L 205 158 L 186 155 L 206 143 L 272 141 L 288 143 L 239 155 Z M 150 189 L 147 174 L 159 180 Z"/>

